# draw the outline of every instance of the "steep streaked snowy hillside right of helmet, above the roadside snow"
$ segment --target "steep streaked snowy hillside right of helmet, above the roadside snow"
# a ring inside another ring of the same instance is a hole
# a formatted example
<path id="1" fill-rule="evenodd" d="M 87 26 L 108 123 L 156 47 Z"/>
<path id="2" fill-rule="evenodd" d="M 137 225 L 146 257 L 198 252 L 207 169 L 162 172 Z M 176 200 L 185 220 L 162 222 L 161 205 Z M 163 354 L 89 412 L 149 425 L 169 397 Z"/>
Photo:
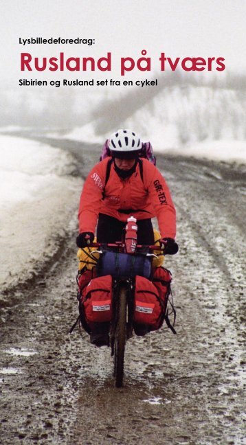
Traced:
<path id="1" fill-rule="evenodd" d="M 246 100 L 231 89 L 166 88 L 128 117 L 126 126 L 155 146 L 194 145 L 207 140 L 245 141 Z"/>

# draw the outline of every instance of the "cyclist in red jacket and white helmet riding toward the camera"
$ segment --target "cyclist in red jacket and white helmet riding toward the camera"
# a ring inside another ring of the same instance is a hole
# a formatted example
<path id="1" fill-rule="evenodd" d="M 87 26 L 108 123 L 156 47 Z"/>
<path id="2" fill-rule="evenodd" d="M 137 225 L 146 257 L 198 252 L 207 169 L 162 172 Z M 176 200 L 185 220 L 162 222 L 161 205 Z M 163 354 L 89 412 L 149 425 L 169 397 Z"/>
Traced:
<path id="1" fill-rule="evenodd" d="M 77 246 L 93 242 L 96 225 L 98 242 L 120 241 L 129 216 L 137 219 L 137 243 L 154 244 L 151 218 L 157 217 L 166 253 L 177 253 L 176 212 L 170 191 L 153 163 L 139 157 L 139 136 L 120 129 L 111 135 L 109 149 L 111 157 L 96 164 L 82 189 Z M 108 327 L 100 325 L 91 334 L 91 343 L 98 346 L 109 341 Z"/>

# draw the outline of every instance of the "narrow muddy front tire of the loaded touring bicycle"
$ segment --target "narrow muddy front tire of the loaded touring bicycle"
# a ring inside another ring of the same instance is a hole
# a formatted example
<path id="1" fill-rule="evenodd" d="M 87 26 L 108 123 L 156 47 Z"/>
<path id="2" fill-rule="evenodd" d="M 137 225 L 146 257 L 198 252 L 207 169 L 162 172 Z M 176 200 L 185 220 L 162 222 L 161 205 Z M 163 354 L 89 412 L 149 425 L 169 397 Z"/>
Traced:
<path id="1" fill-rule="evenodd" d="M 126 287 L 121 286 L 118 297 L 118 323 L 115 332 L 114 374 L 115 387 L 123 385 L 124 350 L 126 345 Z"/>

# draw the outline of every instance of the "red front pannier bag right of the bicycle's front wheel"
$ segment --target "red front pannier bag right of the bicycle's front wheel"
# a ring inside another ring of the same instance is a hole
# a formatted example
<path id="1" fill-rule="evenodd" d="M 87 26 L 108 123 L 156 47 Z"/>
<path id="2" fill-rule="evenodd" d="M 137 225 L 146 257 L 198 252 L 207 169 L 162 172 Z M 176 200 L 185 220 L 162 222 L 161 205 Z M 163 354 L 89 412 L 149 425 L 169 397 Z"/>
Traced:
<path id="1" fill-rule="evenodd" d="M 150 330 L 159 329 L 164 316 L 159 293 L 154 284 L 149 279 L 136 275 L 134 297 L 133 321 L 148 325 Z"/>

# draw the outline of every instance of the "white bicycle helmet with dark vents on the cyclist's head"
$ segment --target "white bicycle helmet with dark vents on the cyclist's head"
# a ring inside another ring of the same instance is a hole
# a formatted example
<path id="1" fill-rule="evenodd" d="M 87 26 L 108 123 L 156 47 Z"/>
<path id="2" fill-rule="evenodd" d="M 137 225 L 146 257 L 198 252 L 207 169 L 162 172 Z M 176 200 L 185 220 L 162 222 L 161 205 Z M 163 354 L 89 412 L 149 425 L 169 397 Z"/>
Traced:
<path id="1" fill-rule="evenodd" d="M 142 149 L 142 142 L 132 130 L 118 130 L 109 138 L 109 148 L 114 157 L 134 159 Z"/>

